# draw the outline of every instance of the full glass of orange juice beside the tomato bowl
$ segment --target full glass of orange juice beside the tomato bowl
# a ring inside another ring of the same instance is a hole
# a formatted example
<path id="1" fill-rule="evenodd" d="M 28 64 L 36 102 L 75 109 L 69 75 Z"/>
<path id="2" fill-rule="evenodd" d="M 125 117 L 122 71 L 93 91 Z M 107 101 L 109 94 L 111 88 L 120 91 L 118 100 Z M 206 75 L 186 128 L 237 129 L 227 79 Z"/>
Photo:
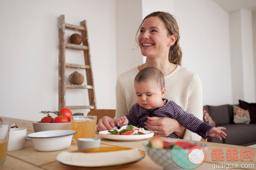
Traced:
<path id="1" fill-rule="evenodd" d="M 97 116 L 71 116 L 71 130 L 77 133 L 73 135 L 72 143 L 77 143 L 78 138 L 94 138 Z"/>

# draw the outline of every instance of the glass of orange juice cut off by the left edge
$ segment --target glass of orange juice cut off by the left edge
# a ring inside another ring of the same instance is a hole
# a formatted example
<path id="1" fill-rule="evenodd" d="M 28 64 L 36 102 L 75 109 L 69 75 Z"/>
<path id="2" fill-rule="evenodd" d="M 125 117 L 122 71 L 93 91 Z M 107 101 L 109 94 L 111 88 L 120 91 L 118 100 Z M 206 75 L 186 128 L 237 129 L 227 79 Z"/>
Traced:
<path id="1" fill-rule="evenodd" d="M 0 166 L 6 161 L 7 144 L 11 123 L 0 122 Z"/>

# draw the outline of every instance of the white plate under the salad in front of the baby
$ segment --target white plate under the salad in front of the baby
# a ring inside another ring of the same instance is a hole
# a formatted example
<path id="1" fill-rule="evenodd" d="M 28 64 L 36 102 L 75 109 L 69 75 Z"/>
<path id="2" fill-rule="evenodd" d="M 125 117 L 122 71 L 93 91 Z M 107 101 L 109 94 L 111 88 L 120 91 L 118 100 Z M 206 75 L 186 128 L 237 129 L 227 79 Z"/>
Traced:
<path id="1" fill-rule="evenodd" d="M 98 132 L 100 137 L 111 139 L 111 140 L 121 140 L 121 141 L 132 141 L 132 140 L 143 140 L 150 137 L 153 137 L 154 132 L 149 131 L 150 133 L 145 135 L 112 135 L 108 130 Z"/>

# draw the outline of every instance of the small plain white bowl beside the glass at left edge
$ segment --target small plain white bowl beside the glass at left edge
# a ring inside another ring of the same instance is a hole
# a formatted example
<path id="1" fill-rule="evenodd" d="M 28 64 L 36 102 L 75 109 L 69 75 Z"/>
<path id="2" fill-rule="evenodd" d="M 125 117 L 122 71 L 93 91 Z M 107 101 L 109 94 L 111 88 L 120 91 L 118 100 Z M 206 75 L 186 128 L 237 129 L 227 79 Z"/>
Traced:
<path id="1" fill-rule="evenodd" d="M 7 150 L 19 150 L 25 145 L 27 135 L 26 128 L 11 128 L 9 132 L 9 141 Z"/>

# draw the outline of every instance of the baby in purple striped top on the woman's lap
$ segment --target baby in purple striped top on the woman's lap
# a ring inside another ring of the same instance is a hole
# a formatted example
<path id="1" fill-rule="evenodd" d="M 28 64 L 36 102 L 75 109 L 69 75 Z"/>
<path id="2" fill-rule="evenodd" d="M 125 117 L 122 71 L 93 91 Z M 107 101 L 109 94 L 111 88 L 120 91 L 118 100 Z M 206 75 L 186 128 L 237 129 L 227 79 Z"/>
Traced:
<path id="1" fill-rule="evenodd" d="M 134 79 L 134 88 L 137 96 L 137 103 L 129 110 L 129 114 L 122 116 L 118 126 L 133 125 L 144 128 L 147 117 L 169 117 L 176 119 L 186 129 L 197 133 L 203 139 L 209 136 L 226 138 L 224 127 L 213 127 L 202 122 L 197 117 L 185 112 L 179 105 L 168 99 L 164 99 L 165 79 L 163 73 L 155 67 L 142 69 Z M 175 133 L 167 137 L 178 138 Z"/>

